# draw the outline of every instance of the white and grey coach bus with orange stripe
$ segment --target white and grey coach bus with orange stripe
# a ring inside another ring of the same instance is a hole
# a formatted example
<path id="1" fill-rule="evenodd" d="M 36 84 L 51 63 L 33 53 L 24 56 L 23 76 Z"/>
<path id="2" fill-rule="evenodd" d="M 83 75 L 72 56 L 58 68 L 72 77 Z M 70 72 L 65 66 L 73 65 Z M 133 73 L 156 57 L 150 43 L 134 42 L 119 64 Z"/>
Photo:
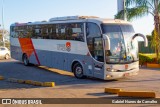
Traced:
<path id="1" fill-rule="evenodd" d="M 10 26 L 11 57 L 73 72 L 76 78 L 112 80 L 137 75 L 138 42 L 131 23 L 96 16 L 55 17 Z"/>

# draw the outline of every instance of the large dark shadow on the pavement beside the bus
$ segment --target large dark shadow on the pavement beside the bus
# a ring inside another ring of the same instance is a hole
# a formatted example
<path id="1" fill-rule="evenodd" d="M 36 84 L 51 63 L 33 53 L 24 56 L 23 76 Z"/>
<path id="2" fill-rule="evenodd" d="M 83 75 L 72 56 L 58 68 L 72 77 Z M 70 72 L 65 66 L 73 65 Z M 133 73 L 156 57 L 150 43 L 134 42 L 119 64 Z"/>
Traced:
<path id="1" fill-rule="evenodd" d="M 40 82 L 55 82 L 56 85 L 97 84 L 116 81 L 105 81 L 90 77 L 87 77 L 86 79 L 76 79 L 70 72 L 47 68 L 44 66 L 24 66 L 23 63 L 12 59 L 0 61 L 0 75 L 6 78 L 5 80 L 0 81 L 0 89 L 37 88 L 36 86 L 32 85 L 8 82 L 8 78 Z"/>

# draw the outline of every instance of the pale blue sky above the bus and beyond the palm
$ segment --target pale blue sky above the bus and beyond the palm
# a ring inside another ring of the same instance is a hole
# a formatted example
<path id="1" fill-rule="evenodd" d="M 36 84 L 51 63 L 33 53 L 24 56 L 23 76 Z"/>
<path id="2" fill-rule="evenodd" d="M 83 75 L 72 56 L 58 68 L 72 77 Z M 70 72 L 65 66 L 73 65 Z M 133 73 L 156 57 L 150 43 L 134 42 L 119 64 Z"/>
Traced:
<path id="1" fill-rule="evenodd" d="M 98 16 L 114 18 L 117 0 L 4 0 L 4 26 L 12 23 L 48 21 L 61 16 Z M 137 33 L 151 34 L 154 23 L 151 15 L 131 22 Z M 2 0 L 0 0 L 0 24 L 2 24 Z M 2 26 L 0 27 L 0 29 Z"/>

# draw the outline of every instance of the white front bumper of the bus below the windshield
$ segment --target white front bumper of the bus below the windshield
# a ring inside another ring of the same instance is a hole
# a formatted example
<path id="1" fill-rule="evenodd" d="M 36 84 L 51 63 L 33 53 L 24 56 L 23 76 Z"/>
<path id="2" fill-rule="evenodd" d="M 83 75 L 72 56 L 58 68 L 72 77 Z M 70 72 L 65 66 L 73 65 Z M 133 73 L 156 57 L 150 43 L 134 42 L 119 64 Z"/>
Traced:
<path id="1" fill-rule="evenodd" d="M 139 72 L 139 68 L 135 68 L 135 69 L 124 71 L 124 72 L 107 72 L 105 80 L 113 80 L 113 79 L 135 76 L 138 74 L 138 72 Z"/>

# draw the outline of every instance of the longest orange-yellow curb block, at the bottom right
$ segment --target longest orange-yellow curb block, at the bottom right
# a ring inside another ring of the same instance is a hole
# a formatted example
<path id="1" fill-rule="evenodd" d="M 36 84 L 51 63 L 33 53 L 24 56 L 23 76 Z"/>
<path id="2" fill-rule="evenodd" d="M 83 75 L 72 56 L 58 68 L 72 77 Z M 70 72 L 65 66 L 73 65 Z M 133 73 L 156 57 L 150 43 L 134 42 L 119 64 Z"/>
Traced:
<path id="1" fill-rule="evenodd" d="M 140 97 L 140 98 L 155 98 L 155 92 L 147 91 L 120 91 L 118 93 L 119 97 Z"/>

